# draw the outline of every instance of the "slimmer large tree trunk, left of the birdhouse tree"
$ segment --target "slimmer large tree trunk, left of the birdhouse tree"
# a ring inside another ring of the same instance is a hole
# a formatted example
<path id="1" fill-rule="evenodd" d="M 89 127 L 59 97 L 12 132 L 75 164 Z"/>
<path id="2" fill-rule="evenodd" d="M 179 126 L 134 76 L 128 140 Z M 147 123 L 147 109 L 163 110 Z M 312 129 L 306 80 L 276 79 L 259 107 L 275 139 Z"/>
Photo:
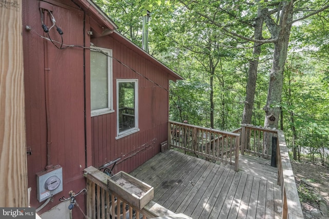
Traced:
<path id="1" fill-rule="evenodd" d="M 259 6 L 257 18 L 255 20 L 254 27 L 254 38 L 255 39 L 263 39 L 263 11 Z M 249 61 L 249 71 L 248 71 L 248 79 L 247 79 L 247 87 L 246 87 L 246 101 L 243 109 L 242 116 L 242 124 L 251 124 L 252 118 L 252 109 L 253 102 L 256 90 L 256 81 L 257 81 L 257 72 L 258 72 L 258 63 L 259 56 L 261 54 L 261 44 L 254 43 L 252 51 L 252 59 Z M 256 124 L 254 124 L 256 125 Z"/>

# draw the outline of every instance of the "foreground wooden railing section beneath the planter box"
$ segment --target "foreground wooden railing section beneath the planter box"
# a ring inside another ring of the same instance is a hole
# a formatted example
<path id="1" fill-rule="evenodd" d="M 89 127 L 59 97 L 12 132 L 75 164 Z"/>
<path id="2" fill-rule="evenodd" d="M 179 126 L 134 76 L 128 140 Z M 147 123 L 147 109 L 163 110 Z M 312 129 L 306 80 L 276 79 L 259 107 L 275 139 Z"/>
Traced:
<path id="1" fill-rule="evenodd" d="M 95 219 L 147 219 L 166 215 L 174 212 L 151 201 L 143 209 L 138 210 L 131 203 L 124 200 L 107 188 L 107 180 L 111 178 L 95 167 L 84 169 L 87 181 L 87 217 Z"/>

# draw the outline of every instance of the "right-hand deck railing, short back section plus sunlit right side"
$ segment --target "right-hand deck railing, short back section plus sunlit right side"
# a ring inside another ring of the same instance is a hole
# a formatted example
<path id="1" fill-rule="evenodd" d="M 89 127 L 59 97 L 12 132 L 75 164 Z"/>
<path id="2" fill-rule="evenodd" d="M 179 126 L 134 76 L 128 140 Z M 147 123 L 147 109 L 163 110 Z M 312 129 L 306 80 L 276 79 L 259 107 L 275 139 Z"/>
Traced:
<path id="1" fill-rule="evenodd" d="M 272 137 L 277 138 L 276 164 L 282 192 L 282 219 L 304 218 L 283 131 L 244 124 L 233 132 L 241 133 L 241 154 L 249 153 L 269 160 Z"/>

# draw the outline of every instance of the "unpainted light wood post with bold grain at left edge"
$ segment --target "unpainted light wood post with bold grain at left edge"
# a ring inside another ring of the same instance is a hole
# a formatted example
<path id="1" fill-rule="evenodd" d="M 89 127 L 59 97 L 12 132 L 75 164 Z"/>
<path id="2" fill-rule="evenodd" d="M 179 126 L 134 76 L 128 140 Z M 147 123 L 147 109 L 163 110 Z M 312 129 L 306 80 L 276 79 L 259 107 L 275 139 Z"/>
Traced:
<path id="1" fill-rule="evenodd" d="M 0 3 L 0 198 L 1 207 L 26 207 L 22 1 Z"/>

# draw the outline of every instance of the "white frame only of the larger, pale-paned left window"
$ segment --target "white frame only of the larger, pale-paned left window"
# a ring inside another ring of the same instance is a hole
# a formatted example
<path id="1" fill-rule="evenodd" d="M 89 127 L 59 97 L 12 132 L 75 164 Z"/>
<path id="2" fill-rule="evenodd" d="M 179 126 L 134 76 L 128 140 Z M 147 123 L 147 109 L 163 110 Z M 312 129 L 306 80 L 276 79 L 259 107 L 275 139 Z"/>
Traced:
<path id="1" fill-rule="evenodd" d="M 108 80 L 108 82 L 107 82 L 107 98 L 108 98 L 107 99 L 107 107 L 102 108 L 102 109 L 97 109 L 97 110 L 91 110 L 91 116 L 103 115 L 103 114 L 106 114 L 106 113 L 114 112 L 114 109 L 113 109 L 112 49 L 106 49 L 106 48 L 101 48 L 101 47 L 90 47 L 90 50 L 91 51 L 96 51 L 96 52 L 103 52 L 103 53 L 107 54 L 107 80 Z M 90 62 L 90 65 L 91 65 L 91 62 Z M 92 75 L 92 72 L 90 71 L 90 76 L 91 75 Z M 90 99 L 90 104 L 91 104 L 91 99 Z"/>

